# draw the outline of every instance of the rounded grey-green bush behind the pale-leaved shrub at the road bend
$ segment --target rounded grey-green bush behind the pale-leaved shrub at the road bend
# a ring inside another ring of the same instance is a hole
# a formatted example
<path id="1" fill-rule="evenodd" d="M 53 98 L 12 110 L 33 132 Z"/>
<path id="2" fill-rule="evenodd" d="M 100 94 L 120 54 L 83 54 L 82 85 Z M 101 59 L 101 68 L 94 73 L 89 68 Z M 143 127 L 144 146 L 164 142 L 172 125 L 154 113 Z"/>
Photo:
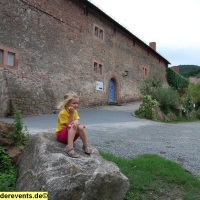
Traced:
<path id="1" fill-rule="evenodd" d="M 159 102 L 160 109 L 166 113 L 170 108 L 174 108 L 178 105 L 179 95 L 178 92 L 171 87 L 158 88 L 153 90 L 152 99 Z"/>

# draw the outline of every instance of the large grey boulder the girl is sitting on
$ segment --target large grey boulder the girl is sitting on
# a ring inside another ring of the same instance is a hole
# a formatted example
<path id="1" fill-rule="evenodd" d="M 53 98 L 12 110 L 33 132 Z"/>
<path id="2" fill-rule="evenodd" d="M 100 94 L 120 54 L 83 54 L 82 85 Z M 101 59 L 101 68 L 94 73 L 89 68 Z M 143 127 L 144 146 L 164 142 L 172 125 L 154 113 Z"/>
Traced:
<path id="1" fill-rule="evenodd" d="M 78 139 L 70 158 L 65 144 L 52 133 L 38 133 L 26 145 L 18 160 L 18 191 L 48 191 L 49 200 L 123 200 L 129 180 L 112 162 L 92 147 L 85 154 Z"/>

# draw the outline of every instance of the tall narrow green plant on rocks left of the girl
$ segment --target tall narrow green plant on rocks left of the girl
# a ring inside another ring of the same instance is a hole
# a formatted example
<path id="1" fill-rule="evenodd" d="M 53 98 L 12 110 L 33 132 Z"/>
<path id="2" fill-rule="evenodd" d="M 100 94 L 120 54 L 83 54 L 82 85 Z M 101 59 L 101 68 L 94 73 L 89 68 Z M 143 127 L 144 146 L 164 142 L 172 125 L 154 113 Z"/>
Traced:
<path id="1" fill-rule="evenodd" d="M 8 134 L 8 137 L 13 139 L 15 145 L 25 145 L 30 139 L 27 127 L 23 126 L 23 120 L 20 111 L 14 106 L 14 130 Z"/>

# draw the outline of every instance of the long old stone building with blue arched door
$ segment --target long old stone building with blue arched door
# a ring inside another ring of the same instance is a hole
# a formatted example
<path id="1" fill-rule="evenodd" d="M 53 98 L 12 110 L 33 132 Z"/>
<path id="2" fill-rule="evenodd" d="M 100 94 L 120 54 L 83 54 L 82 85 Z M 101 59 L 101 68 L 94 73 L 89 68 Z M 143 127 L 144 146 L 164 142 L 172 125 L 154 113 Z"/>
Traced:
<path id="1" fill-rule="evenodd" d="M 80 107 L 138 100 L 168 64 L 87 0 L 0 0 L 0 115 L 51 113 L 71 90 Z"/>

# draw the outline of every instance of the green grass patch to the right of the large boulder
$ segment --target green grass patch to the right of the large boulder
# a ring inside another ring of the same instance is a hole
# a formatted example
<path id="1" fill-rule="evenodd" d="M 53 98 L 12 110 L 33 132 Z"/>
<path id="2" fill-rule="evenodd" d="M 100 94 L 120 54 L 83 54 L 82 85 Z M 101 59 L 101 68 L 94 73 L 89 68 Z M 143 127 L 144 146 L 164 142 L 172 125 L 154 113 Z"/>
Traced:
<path id="1" fill-rule="evenodd" d="M 140 155 L 131 160 L 105 152 L 100 152 L 100 155 L 116 163 L 129 179 L 125 200 L 200 199 L 200 180 L 177 163 L 154 154 Z"/>

